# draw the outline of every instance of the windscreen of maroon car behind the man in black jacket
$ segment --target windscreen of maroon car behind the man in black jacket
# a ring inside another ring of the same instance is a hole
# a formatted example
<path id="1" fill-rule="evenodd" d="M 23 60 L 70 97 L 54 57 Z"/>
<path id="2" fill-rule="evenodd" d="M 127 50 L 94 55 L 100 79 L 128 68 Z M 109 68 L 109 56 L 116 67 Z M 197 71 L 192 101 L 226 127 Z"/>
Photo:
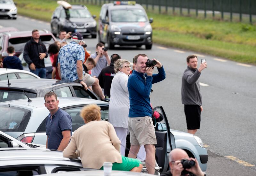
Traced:
<path id="1" fill-rule="evenodd" d="M 31 39 L 31 37 L 17 37 L 17 38 L 11 38 L 9 39 L 9 46 L 13 46 L 16 52 L 21 52 L 24 50 L 25 44 Z M 41 41 L 45 44 L 46 48 L 50 44 L 52 44 L 54 39 L 52 38 L 52 35 L 41 35 L 40 36 Z"/>

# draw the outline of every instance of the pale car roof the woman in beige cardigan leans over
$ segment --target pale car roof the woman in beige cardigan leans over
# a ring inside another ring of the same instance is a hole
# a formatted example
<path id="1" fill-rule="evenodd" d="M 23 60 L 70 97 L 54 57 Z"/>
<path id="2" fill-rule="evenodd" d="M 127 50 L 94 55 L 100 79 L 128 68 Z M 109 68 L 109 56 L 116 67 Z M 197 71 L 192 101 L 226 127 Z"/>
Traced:
<path id="1" fill-rule="evenodd" d="M 57 164 L 61 161 L 74 161 L 74 165 L 82 166 L 79 159 L 69 159 L 63 157 L 63 153 L 57 150 L 42 149 L 42 148 L 0 148 L 0 168 L 1 166 L 14 165 L 14 164 L 28 164 L 32 162 L 34 164 L 53 164 L 53 161 L 57 161 Z M 10 161 L 10 162 L 8 162 Z M 67 164 L 67 163 L 66 163 Z"/>

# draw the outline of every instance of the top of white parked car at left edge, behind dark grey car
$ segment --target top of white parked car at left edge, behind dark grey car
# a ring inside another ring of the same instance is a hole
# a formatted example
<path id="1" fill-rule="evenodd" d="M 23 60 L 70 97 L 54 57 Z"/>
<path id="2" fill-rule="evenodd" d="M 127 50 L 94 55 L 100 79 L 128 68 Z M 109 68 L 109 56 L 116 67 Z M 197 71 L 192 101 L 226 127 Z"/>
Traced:
<path id="1" fill-rule="evenodd" d="M 7 68 L 7 71 L 6 71 L 6 68 L 0 68 L 0 81 L 7 80 L 7 73 L 8 73 L 9 80 L 40 78 L 36 74 L 28 72 L 26 70 L 18 70 L 18 69 Z"/>

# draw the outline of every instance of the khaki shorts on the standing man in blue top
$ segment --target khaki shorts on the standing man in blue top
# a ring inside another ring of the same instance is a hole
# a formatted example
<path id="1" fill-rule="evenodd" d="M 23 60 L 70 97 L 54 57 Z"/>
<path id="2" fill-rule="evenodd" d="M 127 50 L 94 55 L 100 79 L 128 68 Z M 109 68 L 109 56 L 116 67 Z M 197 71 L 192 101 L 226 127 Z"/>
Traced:
<path id="1" fill-rule="evenodd" d="M 151 117 L 129 117 L 128 129 L 131 145 L 156 144 L 155 127 Z"/>

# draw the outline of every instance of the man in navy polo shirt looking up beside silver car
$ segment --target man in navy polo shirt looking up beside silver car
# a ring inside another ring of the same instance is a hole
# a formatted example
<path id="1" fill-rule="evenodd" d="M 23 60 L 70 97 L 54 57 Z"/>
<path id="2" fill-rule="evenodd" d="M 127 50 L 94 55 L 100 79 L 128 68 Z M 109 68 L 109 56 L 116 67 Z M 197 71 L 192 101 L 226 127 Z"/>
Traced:
<path id="1" fill-rule="evenodd" d="M 59 108 L 59 100 L 54 92 L 44 96 L 44 105 L 50 111 L 46 118 L 46 148 L 63 151 L 72 136 L 72 119 L 70 115 Z"/>

